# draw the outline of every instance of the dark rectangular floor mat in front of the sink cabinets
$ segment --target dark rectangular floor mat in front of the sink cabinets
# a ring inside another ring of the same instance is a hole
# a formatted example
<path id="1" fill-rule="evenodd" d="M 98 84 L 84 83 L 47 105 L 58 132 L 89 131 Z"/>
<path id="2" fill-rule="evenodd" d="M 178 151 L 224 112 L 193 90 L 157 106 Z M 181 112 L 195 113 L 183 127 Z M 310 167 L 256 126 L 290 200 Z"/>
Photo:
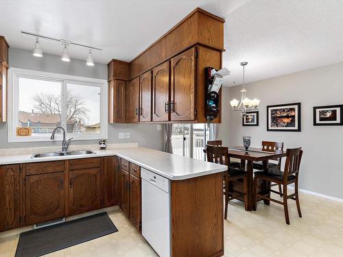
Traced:
<path id="1" fill-rule="evenodd" d="M 16 257 L 42 256 L 117 232 L 106 212 L 21 233 Z"/>

